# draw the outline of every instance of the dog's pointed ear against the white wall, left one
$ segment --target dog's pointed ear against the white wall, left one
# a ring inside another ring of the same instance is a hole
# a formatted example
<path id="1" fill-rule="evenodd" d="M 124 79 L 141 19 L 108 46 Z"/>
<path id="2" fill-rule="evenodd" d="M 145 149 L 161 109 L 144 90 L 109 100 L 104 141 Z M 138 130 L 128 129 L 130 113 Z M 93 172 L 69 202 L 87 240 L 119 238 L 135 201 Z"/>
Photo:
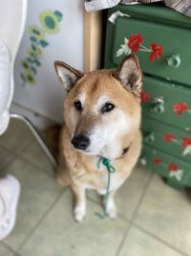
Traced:
<path id="1" fill-rule="evenodd" d="M 76 81 L 83 77 L 83 73 L 62 61 L 54 61 L 55 71 L 64 88 L 69 92 Z"/>

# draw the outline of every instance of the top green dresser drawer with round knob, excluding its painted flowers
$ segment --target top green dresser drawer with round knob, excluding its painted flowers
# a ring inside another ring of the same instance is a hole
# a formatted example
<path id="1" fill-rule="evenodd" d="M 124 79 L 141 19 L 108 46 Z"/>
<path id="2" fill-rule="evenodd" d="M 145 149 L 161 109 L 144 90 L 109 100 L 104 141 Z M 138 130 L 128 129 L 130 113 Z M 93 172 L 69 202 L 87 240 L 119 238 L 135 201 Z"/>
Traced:
<path id="1" fill-rule="evenodd" d="M 147 47 L 152 42 L 163 46 L 161 58 L 153 62 L 148 59 L 150 53 L 140 51 L 136 53 L 144 73 L 191 85 L 191 31 L 189 29 L 131 17 L 118 17 L 111 42 L 114 65 L 124 58 L 124 55 L 117 57 L 117 51 L 120 45 L 124 44 L 124 38 L 132 34 L 142 35 L 145 39 L 143 44 Z"/>

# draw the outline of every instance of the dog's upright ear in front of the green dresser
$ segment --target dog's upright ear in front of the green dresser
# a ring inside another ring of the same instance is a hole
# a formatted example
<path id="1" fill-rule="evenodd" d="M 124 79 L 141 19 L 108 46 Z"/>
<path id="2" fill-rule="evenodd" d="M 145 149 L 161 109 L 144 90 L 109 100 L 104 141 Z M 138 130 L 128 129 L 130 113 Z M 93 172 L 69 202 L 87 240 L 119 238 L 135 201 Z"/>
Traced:
<path id="1" fill-rule="evenodd" d="M 124 58 L 113 75 L 128 91 L 139 96 L 142 90 L 142 72 L 136 56 Z"/>

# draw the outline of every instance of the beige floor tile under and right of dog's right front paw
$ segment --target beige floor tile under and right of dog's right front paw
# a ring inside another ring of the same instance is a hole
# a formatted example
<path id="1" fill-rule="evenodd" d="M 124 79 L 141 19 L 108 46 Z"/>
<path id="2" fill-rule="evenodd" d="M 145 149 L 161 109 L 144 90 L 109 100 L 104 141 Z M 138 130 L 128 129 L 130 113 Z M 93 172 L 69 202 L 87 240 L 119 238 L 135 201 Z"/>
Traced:
<path id="1" fill-rule="evenodd" d="M 116 195 L 119 216 L 131 220 L 138 206 L 138 201 L 145 189 L 148 179 L 152 175 L 150 170 L 137 166 L 132 175 L 119 188 Z M 89 191 L 88 197 L 101 203 L 96 191 Z"/>

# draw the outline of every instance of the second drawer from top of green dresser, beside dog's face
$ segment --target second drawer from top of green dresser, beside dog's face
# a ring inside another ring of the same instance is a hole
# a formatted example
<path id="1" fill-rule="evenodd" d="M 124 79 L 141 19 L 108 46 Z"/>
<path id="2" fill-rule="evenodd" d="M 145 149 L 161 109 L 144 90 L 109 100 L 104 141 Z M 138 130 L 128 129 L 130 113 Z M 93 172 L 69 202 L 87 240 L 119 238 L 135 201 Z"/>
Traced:
<path id="1" fill-rule="evenodd" d="M 186 87 L 143 78 L 143 115 L 191 131 L 191 90 Z"/>

